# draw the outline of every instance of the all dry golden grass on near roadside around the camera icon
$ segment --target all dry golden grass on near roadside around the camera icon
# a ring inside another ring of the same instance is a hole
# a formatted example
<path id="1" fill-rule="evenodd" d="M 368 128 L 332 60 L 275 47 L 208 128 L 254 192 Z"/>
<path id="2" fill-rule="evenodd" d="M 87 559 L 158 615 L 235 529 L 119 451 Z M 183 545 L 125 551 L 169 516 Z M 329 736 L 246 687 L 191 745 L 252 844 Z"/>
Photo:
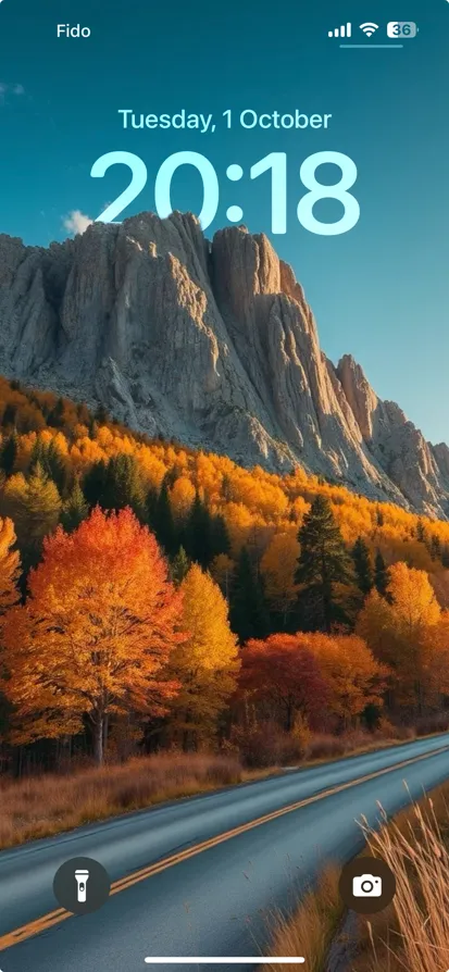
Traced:
<path id="1" fill-rule="evenodd" d="M 385 820 L 379 831 L 364 833 L 364 853 L 382 857 L 396 875 L 391 905 L 370 919 L 350 912 L 349 922 L 348 915 L 342 921 L 339 869 L 330 868 L 292 917 L 276 915 L 271 954 L 301 955 L 308 969 L 329 972 L 329 949 L 337 945 L 338 968 L 348 972 L 444 972 L 449 968 L 449 785 Z M 283 967 L 261 968 L 282 972 Z"/>

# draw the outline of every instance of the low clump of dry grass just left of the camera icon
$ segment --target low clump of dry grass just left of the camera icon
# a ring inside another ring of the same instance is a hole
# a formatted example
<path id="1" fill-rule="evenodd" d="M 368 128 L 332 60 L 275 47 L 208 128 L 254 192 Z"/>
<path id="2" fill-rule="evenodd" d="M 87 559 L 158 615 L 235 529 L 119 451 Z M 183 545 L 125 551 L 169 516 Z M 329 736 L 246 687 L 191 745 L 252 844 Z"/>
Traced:
<path id="1" fill-rule="evenodd" d="M 294 958 L 305 958 L 309 972 L 323 969 L 325 956 L 342 913 L 338 894 L 339 869 L 328 867 L 320 883 L 302 900 L 301 909 L 292 921 L 277 912 L 272 918 L 272 946 L 270 954 Z M 302 964 L 290 968 L 304 968 Z M 263 972 L 285 972 L 285 965 L 270 962 L 260 967 Z"/>

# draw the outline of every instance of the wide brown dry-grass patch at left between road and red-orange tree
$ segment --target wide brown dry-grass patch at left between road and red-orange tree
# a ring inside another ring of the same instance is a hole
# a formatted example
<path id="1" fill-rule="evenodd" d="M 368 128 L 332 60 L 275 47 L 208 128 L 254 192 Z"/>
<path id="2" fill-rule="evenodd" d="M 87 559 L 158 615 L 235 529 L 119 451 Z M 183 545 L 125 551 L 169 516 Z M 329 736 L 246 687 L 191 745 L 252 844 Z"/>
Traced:
<path id="1" fill-rule="evenodd" d="M 237 757 L 161 755 L 0 782 L 0 848 L 248 778 Z"/>

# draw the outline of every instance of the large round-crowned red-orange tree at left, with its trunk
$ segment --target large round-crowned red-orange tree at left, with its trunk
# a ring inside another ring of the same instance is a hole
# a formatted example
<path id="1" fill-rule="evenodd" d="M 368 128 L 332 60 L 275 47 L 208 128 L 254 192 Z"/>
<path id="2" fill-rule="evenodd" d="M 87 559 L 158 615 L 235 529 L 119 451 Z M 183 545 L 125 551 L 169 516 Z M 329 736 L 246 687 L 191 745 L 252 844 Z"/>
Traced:
<path id="1" fill-rule="evenodd" d="M 5 694 L 17 742 L 92 728 L 102 762 L 110 714 L 162 714 L 177 690 L 158 675 L 179 633 L 182 595 L 154 537 L 126 508 L 95 509 L 43 544 L 25 605 L 4 619 Z"/>

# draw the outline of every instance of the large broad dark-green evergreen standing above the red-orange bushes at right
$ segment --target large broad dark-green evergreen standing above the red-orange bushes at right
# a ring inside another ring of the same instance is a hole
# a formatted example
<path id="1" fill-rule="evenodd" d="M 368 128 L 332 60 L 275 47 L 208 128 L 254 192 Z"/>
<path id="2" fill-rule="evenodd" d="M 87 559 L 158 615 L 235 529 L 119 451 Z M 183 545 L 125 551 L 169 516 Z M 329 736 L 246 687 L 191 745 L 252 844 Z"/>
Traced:
<path id="1" fill-rule="evenodd" d="M 351 581 L 351 560 L 329 500 L 316 496 L 298 533 L 301 552 L 295 580 L 301 584 L 300 606 L 308 603 L 308 626 L 329 632 L 345 619 L 336 584 Z"/>

